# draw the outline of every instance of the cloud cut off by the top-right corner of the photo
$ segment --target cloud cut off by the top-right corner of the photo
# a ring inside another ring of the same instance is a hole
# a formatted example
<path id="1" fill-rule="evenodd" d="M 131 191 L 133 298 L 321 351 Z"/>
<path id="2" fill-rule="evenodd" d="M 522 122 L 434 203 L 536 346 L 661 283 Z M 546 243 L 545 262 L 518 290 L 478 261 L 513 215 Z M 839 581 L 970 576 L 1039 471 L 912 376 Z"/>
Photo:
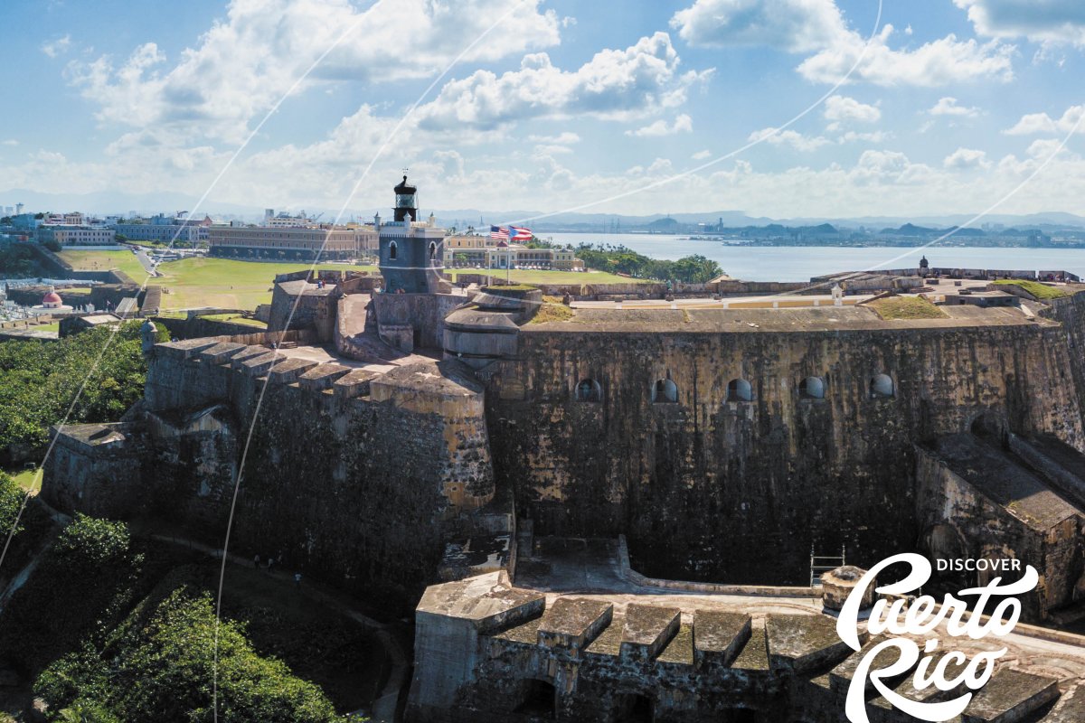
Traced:
<path id="1" fill-rule="evenodd" d="M 1085 44 L 1085 4 L 1081 0 L 954 0 L 954 4 L 968 10 L 968 20 L 981 35 Z"/>

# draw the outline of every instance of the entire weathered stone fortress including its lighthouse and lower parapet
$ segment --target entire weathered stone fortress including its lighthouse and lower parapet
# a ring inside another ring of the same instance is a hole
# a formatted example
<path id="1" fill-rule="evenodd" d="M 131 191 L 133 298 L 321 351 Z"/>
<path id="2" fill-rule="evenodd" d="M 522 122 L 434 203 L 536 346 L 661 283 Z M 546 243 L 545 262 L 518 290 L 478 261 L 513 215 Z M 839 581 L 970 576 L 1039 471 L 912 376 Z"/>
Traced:
<path id="1" fill-rule="evenodd" d="M 1085 721 L 1085 286 L 933 261 L 804 288 L 454 284 L 444 230 L 395 193 L 379 275 L 277 276 L 267 332 L 155 344 L 146 321 L 142 400 L 54 429 L 42 498 L 220 541 L 247 447 L 231 550 L 413 610 L 407 721 L 907 723 L 898 699 L 962 693 L 963 723 Z M 941 314 L 868 304 L 893 295 Z M 973 564 L 859 588 L 902 553 Z M 1036 583 L 998 640 L 904 634 L 926 662 L 875 685 L 893 635 L 838 632 L 855 591 L 922 618 L 1006 560 Z M 994 648 L 974 690 L 917 684 Z"/>

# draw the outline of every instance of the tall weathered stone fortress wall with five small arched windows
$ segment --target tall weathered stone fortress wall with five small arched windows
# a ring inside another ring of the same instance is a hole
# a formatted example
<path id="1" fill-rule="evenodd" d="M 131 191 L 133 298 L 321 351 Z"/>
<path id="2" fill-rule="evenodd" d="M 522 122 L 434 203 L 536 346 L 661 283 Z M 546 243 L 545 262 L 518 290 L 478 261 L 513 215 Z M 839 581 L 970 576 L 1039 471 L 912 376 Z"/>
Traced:
<path id="1" fill-rule="evenodd" d="M 489 375 L 498 478 L 536 533 L 624 532 L 656 577 L 805 584 L 812 546 L 869 565 L 915 545 L 914 444 L 981 414 L 1085 447 L 1082 401 L 1067 393 L 1082 362 L 1056 325 L 557 326 L 525 327 L 520 358 Z M 888 397 L 871 392 L 881 374 Z M 824 398 L 804 393 L 808 377 Z M 652 401 L 661 379 L 676 402 Z M 598 401 L 577 398 L 584 380 Z"/>

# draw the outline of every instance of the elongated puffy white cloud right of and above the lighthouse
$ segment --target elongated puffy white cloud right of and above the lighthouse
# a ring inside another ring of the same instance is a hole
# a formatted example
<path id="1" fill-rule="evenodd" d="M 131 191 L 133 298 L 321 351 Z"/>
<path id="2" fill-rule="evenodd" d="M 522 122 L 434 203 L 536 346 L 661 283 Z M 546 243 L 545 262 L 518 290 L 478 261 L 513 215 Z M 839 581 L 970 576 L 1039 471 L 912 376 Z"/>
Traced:
<path id="1" fill-rule="evenodd" d="M 500 76 L 476 70 L 448 82 L 418 109 L 426 130 L 498 130 L 523 118 L 643 117 L 686 101 L 690 86 L 712 72 L 678 72 L 678 53 L 665 33 L 625 50 L 603 50 L 576 70 L 556 67 L 546 53 L 525 55 L 520 69 Z"/>

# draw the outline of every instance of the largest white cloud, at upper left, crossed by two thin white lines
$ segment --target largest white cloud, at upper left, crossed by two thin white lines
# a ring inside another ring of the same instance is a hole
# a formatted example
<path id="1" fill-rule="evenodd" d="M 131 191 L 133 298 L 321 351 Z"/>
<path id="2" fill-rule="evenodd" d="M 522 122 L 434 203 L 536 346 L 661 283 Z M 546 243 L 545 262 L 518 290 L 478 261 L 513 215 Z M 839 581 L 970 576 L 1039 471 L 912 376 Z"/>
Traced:
<path id="1" fill-rule="evenodd" d="M 510 9 L 499 33 L 518 42 L 480 42 L 463 62 L 557 44 L 560 21 L 540 12 L 539 2 L 398 0 L 358 12 L 348 0 L 232 0 L 226 18 L 171 67 L 157 46 L 145 43 L 119 65 L 106 55 L 73 61 L 67 77 L 100 104 L 105 122 L 237 142 L 341 37 L 295 92 L 343 79 L 429 77 Z"/>

